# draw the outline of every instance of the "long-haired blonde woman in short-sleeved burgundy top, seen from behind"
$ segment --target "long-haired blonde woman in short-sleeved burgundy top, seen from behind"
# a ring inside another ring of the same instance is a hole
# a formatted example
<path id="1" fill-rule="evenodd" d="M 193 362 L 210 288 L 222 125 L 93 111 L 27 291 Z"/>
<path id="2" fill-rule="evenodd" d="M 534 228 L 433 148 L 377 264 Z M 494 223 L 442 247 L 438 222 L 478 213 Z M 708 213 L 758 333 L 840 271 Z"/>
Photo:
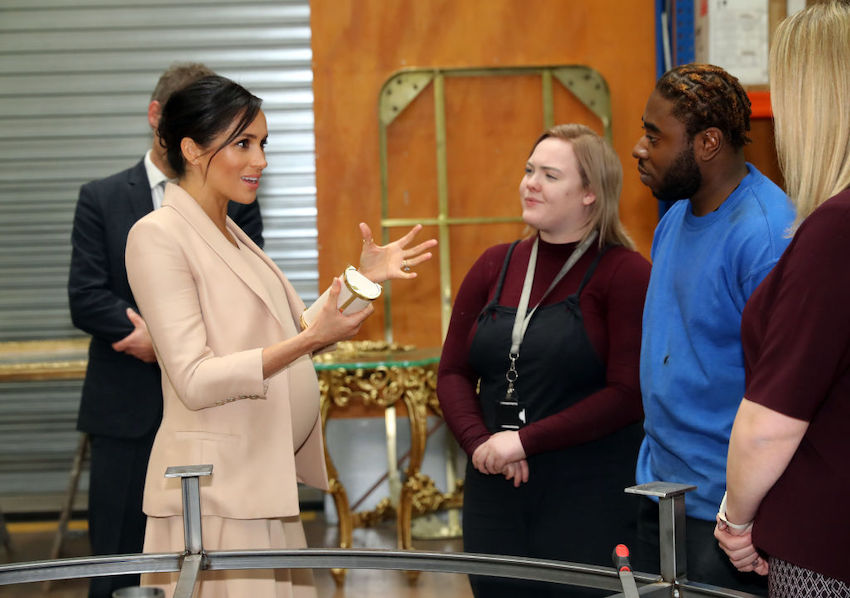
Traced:
<path id="1" fill-rule="evenodd" d="M 850 3 L 783 21 L 776 146 L 798 226 L 744 309 L 746 398 L 715 537 L 770 596 L 850 596 Z M 766 558 L 765 558 L 766 557 Z"/>

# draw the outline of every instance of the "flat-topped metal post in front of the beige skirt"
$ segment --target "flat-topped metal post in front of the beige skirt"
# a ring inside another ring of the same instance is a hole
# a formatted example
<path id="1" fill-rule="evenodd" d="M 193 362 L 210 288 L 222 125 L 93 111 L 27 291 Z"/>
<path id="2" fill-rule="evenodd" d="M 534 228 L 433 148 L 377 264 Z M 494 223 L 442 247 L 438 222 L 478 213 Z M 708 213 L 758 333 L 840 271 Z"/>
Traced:
<path id="1" fill-rule="evenodd" d="M 183 485 L 183 535 L 186 552 L 174 589 L 174 598 L 192 598 L 203 568 L 204 540 L 201 529 L 201 476 L 212 475 L 212 465 L 169 467 L 165 477 L 180 478 Z"/>

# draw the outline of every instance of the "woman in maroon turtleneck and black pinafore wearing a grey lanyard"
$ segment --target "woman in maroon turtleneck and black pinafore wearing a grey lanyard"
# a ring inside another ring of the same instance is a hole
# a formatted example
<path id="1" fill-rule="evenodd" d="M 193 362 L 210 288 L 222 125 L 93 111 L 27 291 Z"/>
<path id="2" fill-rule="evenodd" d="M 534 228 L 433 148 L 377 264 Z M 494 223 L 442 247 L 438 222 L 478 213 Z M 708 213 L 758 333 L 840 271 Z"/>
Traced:
<path id="1" fill-rule="evenodd" d="M 534 234 L 486 250 L 458 291 L 437 394 L 469 456 L 467 552 L 610 566 L 613 547 L 632 537 L 623 488 L 642 438 L 650 267 L 620 222 L 621 185 L 599 135 L 576 124 L 548 130 L 519 186 Z M 479 598 L 565 589 L 470 582 Z"/>

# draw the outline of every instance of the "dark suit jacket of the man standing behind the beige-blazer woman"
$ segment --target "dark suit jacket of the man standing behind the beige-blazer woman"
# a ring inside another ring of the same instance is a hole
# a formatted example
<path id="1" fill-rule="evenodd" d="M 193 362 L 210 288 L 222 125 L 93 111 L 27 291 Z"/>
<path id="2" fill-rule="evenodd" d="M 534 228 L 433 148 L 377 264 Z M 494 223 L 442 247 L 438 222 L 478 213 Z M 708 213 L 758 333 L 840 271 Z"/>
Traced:
<path id="1" fill-rule="evenodd" d="M 83 432 L 139 438 L 155 431 L 162 419 L 159 366 L 112 349 L 112 343 L 133 331 L 126 309 L 138 311 L 124 267 L 127 233 L 152 210 L 144 160 L 80 189 L 68 300 L 74 326 L 92 336 L 77 419 Z M 228 214 L 262 247 L 257 202 L 231 203 Z"/>

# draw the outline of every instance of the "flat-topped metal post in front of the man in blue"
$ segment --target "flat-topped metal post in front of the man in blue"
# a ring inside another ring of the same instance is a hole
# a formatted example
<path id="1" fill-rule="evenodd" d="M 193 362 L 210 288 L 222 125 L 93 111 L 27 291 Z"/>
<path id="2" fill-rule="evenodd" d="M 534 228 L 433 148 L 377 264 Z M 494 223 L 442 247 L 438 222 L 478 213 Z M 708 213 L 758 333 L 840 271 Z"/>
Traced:
<path id="1" fill-rule="evenodd" d="M 696 490 L 696 486 L 672 482 L 649 482 L 625 490 L 629 494 L 658 497 L 661 578 L 674 584 L 687 577 L 685 493 L 691 490 Z"/>

